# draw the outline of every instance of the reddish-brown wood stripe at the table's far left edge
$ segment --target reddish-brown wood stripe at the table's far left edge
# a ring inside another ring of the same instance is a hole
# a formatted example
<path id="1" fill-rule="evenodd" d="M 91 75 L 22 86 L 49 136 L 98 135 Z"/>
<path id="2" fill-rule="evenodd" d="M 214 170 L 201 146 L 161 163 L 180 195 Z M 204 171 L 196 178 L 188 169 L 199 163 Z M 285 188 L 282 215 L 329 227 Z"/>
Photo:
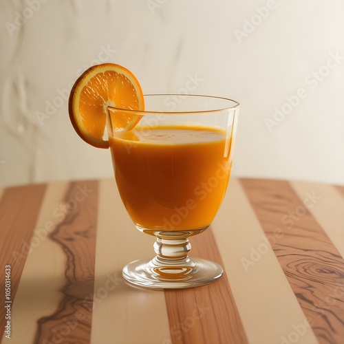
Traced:
<path id="1" fill-rule="evenodd" d="M 11 266 L 11 301 L 15 296 L 21 279 L 26 258 L 31 252 L 30 241 L 39 214 L 45 184 L 18 186 L 6 189 L 0 200 L 0 286 L 5 283 L 5 266 Z M 0 327 L 5 326 L 1 290 Z"/>

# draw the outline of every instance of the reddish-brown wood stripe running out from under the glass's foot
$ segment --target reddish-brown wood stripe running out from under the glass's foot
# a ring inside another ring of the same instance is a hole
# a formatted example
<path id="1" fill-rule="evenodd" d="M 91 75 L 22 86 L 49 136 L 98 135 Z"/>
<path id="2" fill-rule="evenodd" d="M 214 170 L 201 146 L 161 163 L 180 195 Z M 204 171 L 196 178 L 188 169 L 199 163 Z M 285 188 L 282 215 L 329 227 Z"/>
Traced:
<path id="1" fill-rule="evenodd" d="M 190 257 L 210 259 L 223 266 L 209 228 L 191 238 Z M 248 343 L 226 272 L 214 283 L 186 290 L 165 290 L 173 344 Z"/>

